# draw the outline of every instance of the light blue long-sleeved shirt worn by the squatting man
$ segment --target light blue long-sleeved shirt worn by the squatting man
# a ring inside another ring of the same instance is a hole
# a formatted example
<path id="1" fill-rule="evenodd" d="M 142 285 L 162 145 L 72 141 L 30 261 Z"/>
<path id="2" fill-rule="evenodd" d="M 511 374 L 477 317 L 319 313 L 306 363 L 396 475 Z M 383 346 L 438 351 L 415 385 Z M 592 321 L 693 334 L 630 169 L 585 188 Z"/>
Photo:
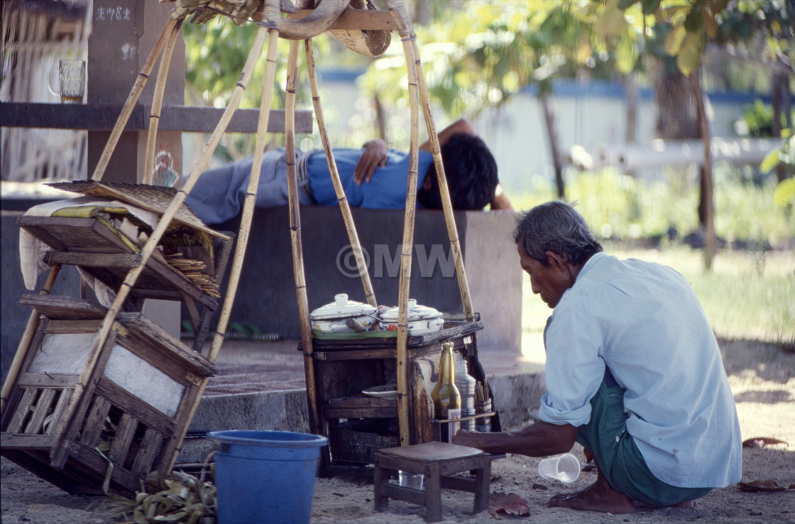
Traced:
<path id="1" fill-rule="evenodd" d="M 678 487 L 738 482 L 743 450 L 717 341 L 677 271 L 598 253 L 545 329 L 539 417 L 580 426 L 607 366 L 626 390 L 627 432 L 651 472 Z"/>

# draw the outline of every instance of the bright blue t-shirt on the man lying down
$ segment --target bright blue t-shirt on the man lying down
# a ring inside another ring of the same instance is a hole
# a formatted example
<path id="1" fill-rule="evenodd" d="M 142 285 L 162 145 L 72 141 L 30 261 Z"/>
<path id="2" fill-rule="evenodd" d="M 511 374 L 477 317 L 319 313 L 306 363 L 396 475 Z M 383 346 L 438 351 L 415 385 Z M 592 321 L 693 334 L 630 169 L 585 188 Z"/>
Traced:
<path id="1" fill-rule="evenodd" d="M 409 184 L 409 153 L 390 149 L 386 153 L 386 166 L 377 167 L 369 182 L 356 185 L 354 169 L 364 149 L 334 149 L 334 159 L 343 184 L 348 204 L 357 208 L 403 209 L 405 192 Z M 433 163 L 433 155 L 419 151 L 417 157 L 417 188 L 425 181 L 425 174 Z M 313 153 L 306 163 L 307 177 L 312 187 L 312 196 L 317 204 L 337 205 L 332 175 L 325 154 Z"/>

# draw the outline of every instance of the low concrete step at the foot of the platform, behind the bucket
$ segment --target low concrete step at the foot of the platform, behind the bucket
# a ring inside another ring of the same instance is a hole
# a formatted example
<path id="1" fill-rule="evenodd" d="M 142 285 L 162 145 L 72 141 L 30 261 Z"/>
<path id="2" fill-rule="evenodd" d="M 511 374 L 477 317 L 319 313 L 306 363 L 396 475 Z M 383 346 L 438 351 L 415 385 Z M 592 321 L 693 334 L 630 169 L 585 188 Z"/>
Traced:
<path id="1" fill-rule="evenodd" d="M 310 433 L 304 361 L 298 340 L 231 340 L 215 362 L 177 464 L 200 464 L 215 449 L 208 431 L 280 430 Z M 503 428 L 515 428 L 536 416 L 546 386 L 543 365 L 521 354 L 481 351 Z"/>

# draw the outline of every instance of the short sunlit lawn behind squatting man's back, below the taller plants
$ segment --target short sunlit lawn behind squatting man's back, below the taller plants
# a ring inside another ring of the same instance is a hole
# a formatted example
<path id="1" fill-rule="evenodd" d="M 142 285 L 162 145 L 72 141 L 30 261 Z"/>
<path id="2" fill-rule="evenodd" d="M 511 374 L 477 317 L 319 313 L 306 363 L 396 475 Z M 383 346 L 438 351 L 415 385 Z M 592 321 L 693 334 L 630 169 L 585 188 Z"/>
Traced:
<path id="1" fill-rule="evenodd" d="M 671 266 L 695 290 L 716 336 L 729 339 L 792 343 L 795 341 L 795 254 L 788 251 L 724 250 L 712 271 L 704 271 L 703 254 L 688 247 L 665 250 L 614 250 L 619 258 L 641 258 Z M 525 275 L 522 329 L 541 332 L 550 310 L 533 295 Z"/>

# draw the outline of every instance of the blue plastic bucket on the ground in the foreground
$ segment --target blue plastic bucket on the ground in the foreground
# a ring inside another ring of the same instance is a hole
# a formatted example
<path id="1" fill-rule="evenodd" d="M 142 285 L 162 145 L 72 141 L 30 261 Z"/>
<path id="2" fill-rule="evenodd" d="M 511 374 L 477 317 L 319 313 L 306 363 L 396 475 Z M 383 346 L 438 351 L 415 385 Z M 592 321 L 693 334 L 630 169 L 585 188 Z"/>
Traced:
<path id="1" fill-rule="evenodd" d="M 306 524 L 326 437 L 289 431 L 213 431 L 218 524 Z"/>

